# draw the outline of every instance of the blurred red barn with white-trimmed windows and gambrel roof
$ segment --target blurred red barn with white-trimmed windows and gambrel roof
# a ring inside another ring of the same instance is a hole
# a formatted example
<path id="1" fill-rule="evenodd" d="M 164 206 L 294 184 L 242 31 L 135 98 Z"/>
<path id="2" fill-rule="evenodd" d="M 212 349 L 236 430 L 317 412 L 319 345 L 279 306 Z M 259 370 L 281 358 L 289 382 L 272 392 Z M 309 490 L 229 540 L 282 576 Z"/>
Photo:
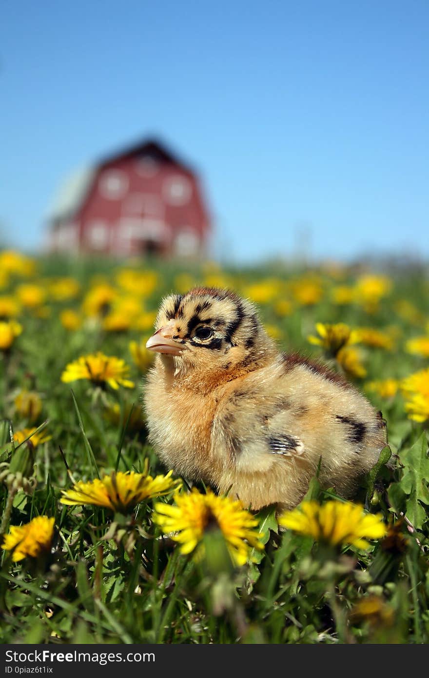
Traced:
<path id="1" fill-rule="evenodd" d="M 50 252 L 201 256 L 210 233 L 195 172 L 155 141 L 72 176 L 48 218 Z"/>

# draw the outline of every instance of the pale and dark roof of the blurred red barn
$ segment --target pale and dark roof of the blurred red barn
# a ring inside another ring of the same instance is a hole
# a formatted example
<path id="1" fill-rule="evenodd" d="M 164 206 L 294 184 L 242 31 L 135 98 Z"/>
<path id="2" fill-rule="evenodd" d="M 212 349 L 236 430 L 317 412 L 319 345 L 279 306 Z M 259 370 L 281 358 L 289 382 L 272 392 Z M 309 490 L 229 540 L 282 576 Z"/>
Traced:
<path id="1" fill-rule="evenodd" d="M 123 148 L 117 153 L 113 153 L 108 157 L 100 159 L 91 167 L 85 167 L 70 174 L 64 182 L 60 185 L 52 205 L 47 210 L 47 219 L 50 221 L 57 221 L 60 219 L 70 219 L 79 210 L 85 197 L 89 193 L 89 188 L 96 176 L 100 167 L 110 165 L 115 161 L 124 159 L 126 157 L 133 157 L 135 155 L 152 155 L 161 162 L 174 163 L 180 165 L 185 172 L 194 174 L 193 170 L 180 160 L 176 155 L 161 144 L 161 142 L 153 139 L 146 139 L 144 141 L 136 142 L 131 146 Z"/>

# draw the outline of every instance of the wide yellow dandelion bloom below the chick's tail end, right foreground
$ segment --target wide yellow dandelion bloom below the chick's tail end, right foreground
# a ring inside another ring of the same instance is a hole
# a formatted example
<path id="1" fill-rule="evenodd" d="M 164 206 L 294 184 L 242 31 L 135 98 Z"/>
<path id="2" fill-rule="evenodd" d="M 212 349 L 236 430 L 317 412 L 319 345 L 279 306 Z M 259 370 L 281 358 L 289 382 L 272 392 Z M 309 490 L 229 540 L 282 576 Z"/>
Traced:
<path id="1" fill-rule="evenodd" d="M 282 513 L 279 525 L 331 546 L 352 544 L 358 549 L 369 547 L 367 539 L 380 539 L 386 534 L 381 514 L 365 513 L 360 504 L 335 500 L 322 506 L 314 501 L 303 502 L 297 509 Z"/>

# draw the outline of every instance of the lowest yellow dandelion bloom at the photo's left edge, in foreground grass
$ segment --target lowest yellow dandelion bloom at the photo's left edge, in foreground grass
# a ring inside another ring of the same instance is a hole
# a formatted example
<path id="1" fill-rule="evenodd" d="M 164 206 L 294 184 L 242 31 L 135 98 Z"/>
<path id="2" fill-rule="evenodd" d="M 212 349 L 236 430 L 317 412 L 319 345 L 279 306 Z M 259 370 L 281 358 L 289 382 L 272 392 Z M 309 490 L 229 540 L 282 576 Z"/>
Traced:
<path id="1" fill-rule="evenodd" d="M 26 525 L 12 526 L 5 535 L 1 546 L 5 551 L 13 551 L 14 563 L 30 556 L 37 558 L 49 550 L 54 536 L 54 518 L 39 515 Z"/>

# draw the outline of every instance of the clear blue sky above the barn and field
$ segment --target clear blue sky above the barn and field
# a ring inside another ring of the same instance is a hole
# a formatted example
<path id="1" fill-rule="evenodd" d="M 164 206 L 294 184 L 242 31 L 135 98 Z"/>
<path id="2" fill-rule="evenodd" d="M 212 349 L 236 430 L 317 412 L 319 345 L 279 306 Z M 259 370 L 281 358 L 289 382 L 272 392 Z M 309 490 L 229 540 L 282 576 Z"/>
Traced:
<path id="1" fill-rule="evenodd" d="M 427 0 L 3 3 L 0 223 L 35 250 L 58 183 L 156 135 L 237 260 L 429 255 Z"/>

